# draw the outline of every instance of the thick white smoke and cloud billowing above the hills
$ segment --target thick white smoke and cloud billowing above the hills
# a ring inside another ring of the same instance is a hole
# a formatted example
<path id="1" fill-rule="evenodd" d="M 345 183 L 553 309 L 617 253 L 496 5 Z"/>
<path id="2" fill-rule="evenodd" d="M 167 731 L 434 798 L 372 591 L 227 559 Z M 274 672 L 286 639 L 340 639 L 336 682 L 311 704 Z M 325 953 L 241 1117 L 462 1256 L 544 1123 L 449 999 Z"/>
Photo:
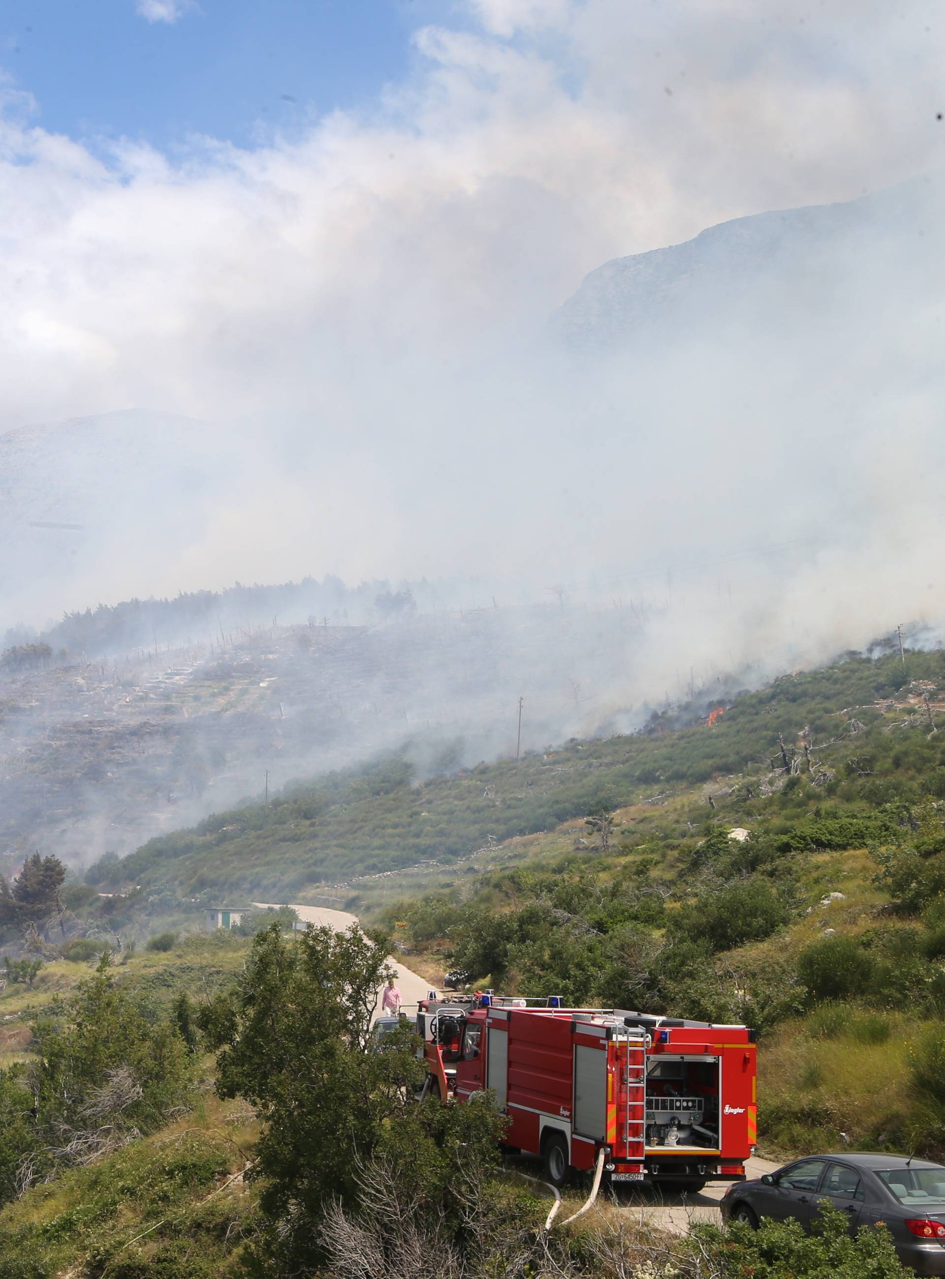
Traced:
<path id="1" fill-rule="evenodd" d="M 131 498 L 106 448 L 92 542 L 49 579 L 8 567 L 5 620 L 307 572 L 606 599 L 704 564 L 634 656 L 658 691 L 688 663 L 808 660 L 937 616 L 933 208 L 877 205 L 834 242 L 826 297 L 799 239 L 748 261 L 767 303 L 740 312 L 736 280 L 721 327 L 709 290 L 601 363 L 545 331 L 607 258 L 933 170 L 937 6 L 452 13 L 416 32 L 410 81 L 255 150 L 104 148 L 8 95 L 0 428 L 131 407 L 205 425 L 190 444 L 143 427 Z M 29 443 L 69 469 L 68 432 Z M 161 444 L 187 466 L 193 446 L 190 504 Z M 707 623 L 729 556 L 743 585 Z"/>

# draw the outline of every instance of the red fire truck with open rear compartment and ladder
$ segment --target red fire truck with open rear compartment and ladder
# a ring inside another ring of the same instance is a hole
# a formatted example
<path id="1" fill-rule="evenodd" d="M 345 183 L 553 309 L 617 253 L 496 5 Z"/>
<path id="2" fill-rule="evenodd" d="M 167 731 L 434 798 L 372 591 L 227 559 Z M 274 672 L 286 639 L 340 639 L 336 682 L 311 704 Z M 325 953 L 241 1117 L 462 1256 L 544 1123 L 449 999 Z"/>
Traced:
<path id="1" fill-rule="evenodd" d="M 423 1000 L 425 1094 L 490 1088 L 508 1146 L 561 1186 L 604 1151 L 613 1182 L 694 1192 L 744 1181 L 757 1127 L 754 1031 L 561 1000 Z"/>

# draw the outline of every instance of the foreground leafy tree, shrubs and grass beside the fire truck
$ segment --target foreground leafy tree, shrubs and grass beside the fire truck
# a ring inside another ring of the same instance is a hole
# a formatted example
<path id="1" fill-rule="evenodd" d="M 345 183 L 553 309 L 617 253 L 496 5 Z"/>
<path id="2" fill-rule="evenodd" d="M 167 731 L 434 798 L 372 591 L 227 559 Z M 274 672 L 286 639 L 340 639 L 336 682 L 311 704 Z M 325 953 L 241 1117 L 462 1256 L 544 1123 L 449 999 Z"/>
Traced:
<path id="1" fill-rule="evenodd" d="M 545 1230 L 547 1200 L 499 1161 L 503 1120 L 489 1095 L 408 1100 L 420 1067 L 406 1028 L 368 1050 L 385 953 L 385 938 L 355 930 L 260 932 L 196 1018 L 218 1054 L 216 1095 L 197 1088 L 156 1133 L 18 1193 L 0 1211 L 0 1279 L 903 1274 L 882 1228 L 854 1239 L 839 1214 L 816 1238 L 793 1224 L 699 1225 L 680 1238 L 633 1212 Z M 108 984 L 104 968 L 79 999 L 113 998 Z M 187 1051 L 179 1032 L 177 1051 Z M 196 1077 L 210 1058 L 191 1056 Z"/>

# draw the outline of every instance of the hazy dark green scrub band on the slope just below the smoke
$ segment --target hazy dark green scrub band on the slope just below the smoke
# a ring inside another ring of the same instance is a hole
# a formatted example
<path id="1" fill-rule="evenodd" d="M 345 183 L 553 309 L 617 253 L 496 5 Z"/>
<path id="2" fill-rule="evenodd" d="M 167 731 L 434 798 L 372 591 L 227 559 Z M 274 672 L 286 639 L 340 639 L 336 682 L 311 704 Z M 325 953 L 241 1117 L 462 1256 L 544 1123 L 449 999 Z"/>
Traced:
<path id="1" fill-rule="evenodd" d="M 910 654 L 908 677 L 945 680 L 942 655 Z M 421 784 L 405 760 L 384 758 L 286 790 L 269 808 L 219 813 L 154 839 L 108 868 L 104 883 L 170 886 L 207 899 L 300 899 L 320 886 L 355 897 L 359 876 L 453 865 L 493 842 L 583 817 L 602 802 L 639 803 L 741 774 L 777 752 L 779 734 L 789 746 L 803 728 L 827 739 L 844 728 L 840 712 L 891 698 L 904 682 L 891 656 L 850 660 L 744 694 L 712 728 L 694 707 L 682 709 L 656 719 L 647 734 L 571 743 Z M 680 726 L 686 721 L 693 726 Z M 764 806 L 748 801 L 743 808 L 752 817 Z"/>

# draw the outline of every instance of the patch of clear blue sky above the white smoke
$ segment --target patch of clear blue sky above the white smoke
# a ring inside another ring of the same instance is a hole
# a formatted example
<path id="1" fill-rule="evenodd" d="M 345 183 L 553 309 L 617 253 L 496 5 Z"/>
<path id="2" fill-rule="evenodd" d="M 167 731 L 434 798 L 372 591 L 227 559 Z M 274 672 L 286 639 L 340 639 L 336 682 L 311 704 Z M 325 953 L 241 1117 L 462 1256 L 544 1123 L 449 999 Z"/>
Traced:
<path id="1" fill-rule="evenodd" d="M 143 14 L 149 12 L 152 20 Z M 0 67 L 33 122 L 173 148 L 246 145 L 369 101 L 410 65 L 410 35 L 448 0 L 1 0 Z M 160 14 L 179 17 L 161 20 Z"/>

